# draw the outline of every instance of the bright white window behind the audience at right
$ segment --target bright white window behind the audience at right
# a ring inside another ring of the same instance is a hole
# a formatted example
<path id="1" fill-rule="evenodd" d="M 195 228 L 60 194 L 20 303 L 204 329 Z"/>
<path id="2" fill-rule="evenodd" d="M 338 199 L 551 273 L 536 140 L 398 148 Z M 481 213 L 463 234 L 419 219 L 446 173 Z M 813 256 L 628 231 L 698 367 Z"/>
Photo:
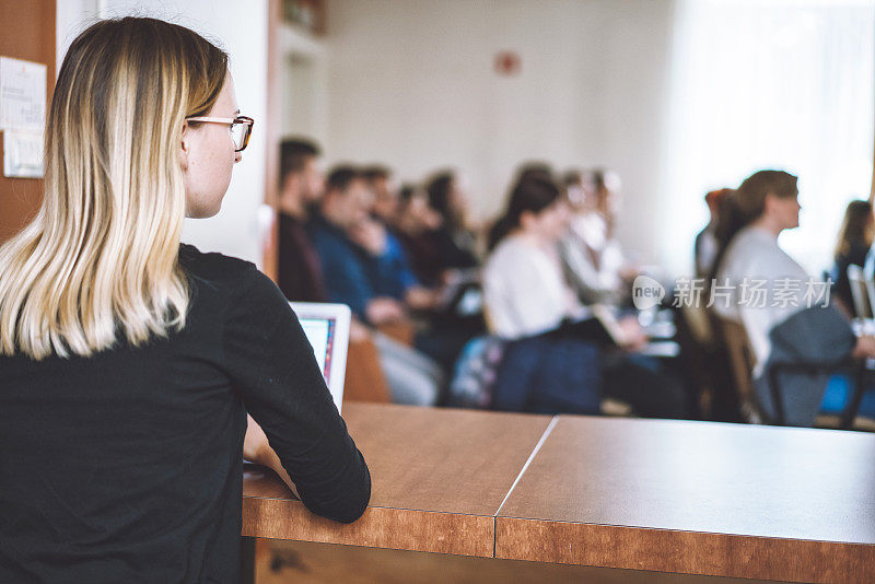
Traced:
<path id="1" fill-rule="evenodd" d="M 803 206 L 781 244 L 820 273 L 845 205 L 868 197 L 875 2 L 688 0 L 676 23 L 664 257 L 690 273 L 705 191 L 778 168 Z"/>

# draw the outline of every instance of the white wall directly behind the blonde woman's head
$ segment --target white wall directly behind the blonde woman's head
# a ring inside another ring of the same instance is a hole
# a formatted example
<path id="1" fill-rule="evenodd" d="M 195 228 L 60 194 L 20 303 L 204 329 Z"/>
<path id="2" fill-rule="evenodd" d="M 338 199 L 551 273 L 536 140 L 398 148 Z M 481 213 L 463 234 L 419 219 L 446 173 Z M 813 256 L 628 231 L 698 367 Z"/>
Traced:
<path id="1" fill-rule="evenodd" d="M 245 4 L 245 5 L 244 5 Z M 231 74 L 243 114 L 255 131 L 237 164 L 222 211 L 212 219 L 186 220 L 183 241 L 202 252 L 260 261 L 258 208 L 265 197 L 267 124 L 267 0 L 62 0 L 58 2 L 58 62 L 70 42 L 97 17 L 153 16 L 217 40 L 231 56 Z"/>

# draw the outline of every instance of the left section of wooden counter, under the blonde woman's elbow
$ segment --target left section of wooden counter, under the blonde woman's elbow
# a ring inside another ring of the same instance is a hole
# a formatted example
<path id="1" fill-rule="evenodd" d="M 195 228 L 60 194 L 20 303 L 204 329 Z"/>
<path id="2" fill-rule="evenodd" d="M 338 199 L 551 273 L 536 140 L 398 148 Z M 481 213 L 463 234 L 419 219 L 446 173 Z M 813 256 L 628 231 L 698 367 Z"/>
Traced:
<path id="1" fill-rule="evenodd" d="M 243 535 L 491 558 L 494 516 L 549 416 L 348 404 L 371 468 L 371 504 L 353 524 L 311 514 L 272 472 L 244 475 Z"/>

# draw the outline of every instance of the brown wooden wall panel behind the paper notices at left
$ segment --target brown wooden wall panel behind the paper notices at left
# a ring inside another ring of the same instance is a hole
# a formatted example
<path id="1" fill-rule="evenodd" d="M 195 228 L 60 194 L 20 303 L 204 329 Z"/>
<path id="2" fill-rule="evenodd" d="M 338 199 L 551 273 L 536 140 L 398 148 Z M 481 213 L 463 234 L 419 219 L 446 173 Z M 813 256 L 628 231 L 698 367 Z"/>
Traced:
<path id="1" fill-rule="evenodd" d="M 55 87 L 55 0 L 0 0 L 0 56 L 44 63 L 47 101 Z M 0 165 L 2 149 L 0 140 Z M 5 178 L 0 167 L 0 243 L 27 224 L 42 200 L 42 179 Z"/>

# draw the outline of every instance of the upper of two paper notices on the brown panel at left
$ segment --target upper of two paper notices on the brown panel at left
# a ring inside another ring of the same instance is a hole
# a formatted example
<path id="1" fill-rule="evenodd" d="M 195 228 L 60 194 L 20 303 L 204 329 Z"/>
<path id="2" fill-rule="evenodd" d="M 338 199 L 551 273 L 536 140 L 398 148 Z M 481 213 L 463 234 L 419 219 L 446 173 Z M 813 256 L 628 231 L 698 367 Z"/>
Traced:
<path id="1" fill-rule="evenodd" d="M 46 66 L 0 57 L 0 130 L 43 131 Z"/>

